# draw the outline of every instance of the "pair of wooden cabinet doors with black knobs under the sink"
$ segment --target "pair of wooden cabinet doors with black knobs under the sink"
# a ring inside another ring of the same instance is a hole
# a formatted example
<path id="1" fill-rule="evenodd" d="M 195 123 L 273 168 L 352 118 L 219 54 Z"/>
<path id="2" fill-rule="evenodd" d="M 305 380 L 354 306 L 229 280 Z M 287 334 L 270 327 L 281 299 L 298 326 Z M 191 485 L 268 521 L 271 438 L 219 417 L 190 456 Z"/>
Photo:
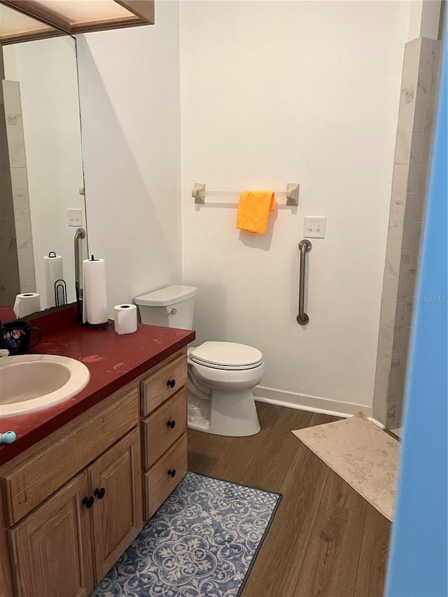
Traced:
<path id="1" fill-rule="evenodd" d="M 20 597 L 88 596 L 141 531 L 139 431 L 8 531 Z"/>

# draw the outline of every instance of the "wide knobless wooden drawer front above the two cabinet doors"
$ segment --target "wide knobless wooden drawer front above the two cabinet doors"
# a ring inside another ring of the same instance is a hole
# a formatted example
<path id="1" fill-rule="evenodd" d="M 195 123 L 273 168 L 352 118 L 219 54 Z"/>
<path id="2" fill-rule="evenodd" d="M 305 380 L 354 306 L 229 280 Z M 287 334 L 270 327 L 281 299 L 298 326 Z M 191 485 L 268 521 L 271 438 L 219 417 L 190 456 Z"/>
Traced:
<path id="1" fill-rule="evenodd" d="M 11 461 L 1 475 L 9 524 L 31 512 L 138 423 L 138 388 L 125 388 Z"/>

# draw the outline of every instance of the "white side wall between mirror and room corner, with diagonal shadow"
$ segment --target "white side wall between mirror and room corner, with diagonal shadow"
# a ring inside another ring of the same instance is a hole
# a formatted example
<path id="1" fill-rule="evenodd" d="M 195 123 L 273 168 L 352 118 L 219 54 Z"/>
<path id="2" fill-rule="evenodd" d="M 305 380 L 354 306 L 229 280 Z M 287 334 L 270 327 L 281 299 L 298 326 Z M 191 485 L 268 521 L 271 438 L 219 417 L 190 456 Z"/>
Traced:
<path id="1" fill-rule="evenodd" d="M 179 4 L 78 36 L 89 252 L 113 305 L 181 277 Z"/>

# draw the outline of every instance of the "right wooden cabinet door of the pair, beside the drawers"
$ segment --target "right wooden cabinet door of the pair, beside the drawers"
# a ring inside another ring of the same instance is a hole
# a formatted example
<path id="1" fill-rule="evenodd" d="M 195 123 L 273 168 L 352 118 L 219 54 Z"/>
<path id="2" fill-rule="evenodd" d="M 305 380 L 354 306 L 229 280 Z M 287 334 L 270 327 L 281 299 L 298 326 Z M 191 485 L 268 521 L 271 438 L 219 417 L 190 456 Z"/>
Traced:
<path id="1" fill-rule="evenodd" d="M 140 434 L 134 429 L 88 468 L 96 581 L 137 537 L 142 523 Z"/>

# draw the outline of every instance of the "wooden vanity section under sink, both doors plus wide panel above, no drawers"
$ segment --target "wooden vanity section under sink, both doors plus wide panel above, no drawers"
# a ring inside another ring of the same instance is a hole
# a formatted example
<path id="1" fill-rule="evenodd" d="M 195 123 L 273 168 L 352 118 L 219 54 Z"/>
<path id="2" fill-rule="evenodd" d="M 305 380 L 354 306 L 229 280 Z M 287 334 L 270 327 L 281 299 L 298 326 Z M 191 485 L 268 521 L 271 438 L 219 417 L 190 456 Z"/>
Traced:
<path id="1" fill-rule="evenodd" d="M 88 596 L 139 534 L 139 408 L 134 381 L 0 468 L 0 595 Z"/>

